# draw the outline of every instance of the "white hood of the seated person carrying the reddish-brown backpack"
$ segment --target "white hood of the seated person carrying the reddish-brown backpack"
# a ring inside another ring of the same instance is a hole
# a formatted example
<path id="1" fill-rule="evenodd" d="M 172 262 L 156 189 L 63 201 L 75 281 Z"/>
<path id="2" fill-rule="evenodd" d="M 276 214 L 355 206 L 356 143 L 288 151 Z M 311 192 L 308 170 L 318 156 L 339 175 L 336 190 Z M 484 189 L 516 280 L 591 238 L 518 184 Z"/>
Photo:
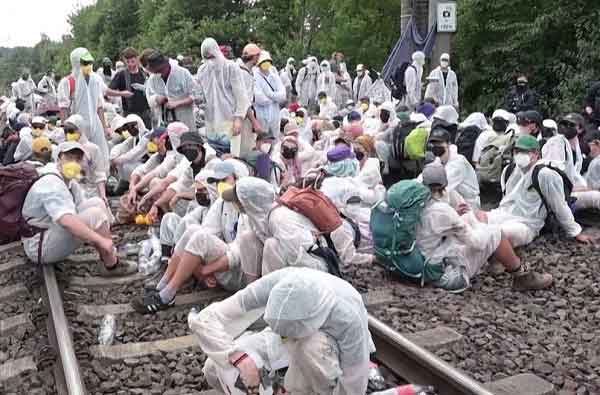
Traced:
<path id="1" fill-rule="evenodd" d="M 246 177 L 236 183 L 235 191 L 252 230 L 264 242 L 269 234 L 269 211 L 276 196 L 273 185 L 260 178 Z"/>

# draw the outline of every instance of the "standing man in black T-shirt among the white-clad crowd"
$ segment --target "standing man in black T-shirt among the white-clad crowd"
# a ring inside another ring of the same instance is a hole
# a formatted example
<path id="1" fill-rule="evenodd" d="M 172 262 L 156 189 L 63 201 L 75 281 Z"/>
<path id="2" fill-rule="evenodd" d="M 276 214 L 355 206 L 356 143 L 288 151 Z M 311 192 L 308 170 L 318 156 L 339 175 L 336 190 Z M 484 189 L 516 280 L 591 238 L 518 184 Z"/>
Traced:
<path id="1" fill-rule="evenodd" d="M 115 74 L 110 82 L 109 96 L 120 96 L 123 102 L 123 116 L 135 114 L 142 118 L 146 128 L 152 127 L 150 106 L 146 100 L 146 75 L 140 69 L 138 53 L 127 47 L 121 52 L 121 58 L 127 65 L 125 70 Z"/>

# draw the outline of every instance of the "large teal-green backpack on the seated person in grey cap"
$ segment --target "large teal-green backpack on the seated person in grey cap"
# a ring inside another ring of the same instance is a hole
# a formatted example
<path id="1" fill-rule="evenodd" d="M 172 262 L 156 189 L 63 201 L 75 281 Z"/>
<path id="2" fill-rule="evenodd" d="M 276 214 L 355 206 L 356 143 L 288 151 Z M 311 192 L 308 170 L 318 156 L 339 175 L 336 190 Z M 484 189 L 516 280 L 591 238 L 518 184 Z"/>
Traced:
<path id="1" fill-rule="evenodd" d="M 422 283 L 437 281 L 443 274 L 439 265 L 428 265 L 416 246 L 417 225 L 429 188 L 415 180 L 403 180 L 387 192 L 385 201 L 371 211 L 370 227 L 377 262 L 391 272 Z"/>

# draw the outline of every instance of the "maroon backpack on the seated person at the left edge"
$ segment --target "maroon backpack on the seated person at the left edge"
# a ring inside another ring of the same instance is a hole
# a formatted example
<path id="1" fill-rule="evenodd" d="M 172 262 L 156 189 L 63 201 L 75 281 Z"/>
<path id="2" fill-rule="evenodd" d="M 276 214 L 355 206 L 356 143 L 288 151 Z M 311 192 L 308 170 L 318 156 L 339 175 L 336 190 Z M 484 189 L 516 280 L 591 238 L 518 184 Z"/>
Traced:
<path id="1" fill-rule="evenodd" d="M 17 163 L 0 167 L 0 243 L 32 237 L 38 228 L 23 218 L 23 203 L 27 192 L 41 177 L 33 165 Z"/>

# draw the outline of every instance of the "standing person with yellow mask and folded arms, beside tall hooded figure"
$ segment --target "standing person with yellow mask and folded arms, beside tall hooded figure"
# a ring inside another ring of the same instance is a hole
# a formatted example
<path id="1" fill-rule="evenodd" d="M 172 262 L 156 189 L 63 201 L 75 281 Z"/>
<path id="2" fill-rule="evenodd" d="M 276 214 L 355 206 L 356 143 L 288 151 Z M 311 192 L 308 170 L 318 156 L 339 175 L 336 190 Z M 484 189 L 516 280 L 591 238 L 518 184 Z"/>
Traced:
<path id="1" fill-rule="evenodd" d="M 276 139 L 280 134 L 280 105 L 285 101 L 285 87 L 273 67 L 273 59 L 262 51 L 254 69 L 254 109 L 262 129 Z"/>

